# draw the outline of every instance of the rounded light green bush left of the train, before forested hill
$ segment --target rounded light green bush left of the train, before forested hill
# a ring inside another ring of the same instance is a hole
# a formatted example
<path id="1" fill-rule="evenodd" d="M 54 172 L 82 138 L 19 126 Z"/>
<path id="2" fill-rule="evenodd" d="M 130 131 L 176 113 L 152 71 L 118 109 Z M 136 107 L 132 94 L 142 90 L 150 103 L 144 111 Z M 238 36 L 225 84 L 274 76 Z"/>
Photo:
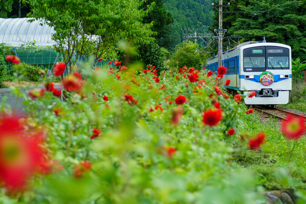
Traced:
<path id="1" fill-rule="evenodd" d="M 191 41 L 188 43 L 182 42 L 175 47 L 175 52 L 172 54 L 168 62 L 170 69 L 179 69 L 184 65 L 187 67 L 194 67 L 200 69 L 201 65 L 206 63 L 208 56 L 198 51 L 198 44 L 194 44 Z"/>

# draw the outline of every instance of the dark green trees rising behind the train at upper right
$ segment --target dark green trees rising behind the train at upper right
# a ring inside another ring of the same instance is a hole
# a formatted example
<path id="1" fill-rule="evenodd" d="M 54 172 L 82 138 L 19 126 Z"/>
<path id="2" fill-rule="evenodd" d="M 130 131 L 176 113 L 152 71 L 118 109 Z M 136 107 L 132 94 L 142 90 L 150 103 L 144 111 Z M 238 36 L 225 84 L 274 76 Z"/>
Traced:
<path id="1" fill-rule="evenodd" d="M 225 2 L 226 3 L 226 2 Z M 306 60 L 303 49 L 306 48 L 306 0 L 238 0 L 232 3 L 230 10 L 265 11 L 264 13 L 224 13 L 223 28 L 226 36 L 241 36 L 246 41 L 262 40 L 283 43 L 291 46 L 292 56 Z M 243 7 L 243 8 L 241 8 Z M 268 11 L 269 10 L 269 11 Z M 218 27 L 218 12 L 215 12 L 215 23 L 211 30 Z"/>

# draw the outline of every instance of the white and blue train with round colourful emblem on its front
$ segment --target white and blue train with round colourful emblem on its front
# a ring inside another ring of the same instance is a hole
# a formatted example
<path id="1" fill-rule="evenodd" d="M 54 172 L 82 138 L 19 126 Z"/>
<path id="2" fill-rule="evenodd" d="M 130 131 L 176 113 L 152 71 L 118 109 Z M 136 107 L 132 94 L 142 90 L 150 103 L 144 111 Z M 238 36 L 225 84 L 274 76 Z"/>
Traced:
<path id="1" fill-rule="evenodd" d="M 289 102 L 292 87 L 291 47 L 280 43 L 265 41 L 245 42 L 222 54 L 222 65 L 227 73 L 222 84 L 230 79 L 226 88 L 230 93 L 241 91 L 245 104 L 277 105 Z M 218 70 L 218 56 L 207 60 L 207 68 Z M 256 96 L 249 98 L 249 92 Z"/>

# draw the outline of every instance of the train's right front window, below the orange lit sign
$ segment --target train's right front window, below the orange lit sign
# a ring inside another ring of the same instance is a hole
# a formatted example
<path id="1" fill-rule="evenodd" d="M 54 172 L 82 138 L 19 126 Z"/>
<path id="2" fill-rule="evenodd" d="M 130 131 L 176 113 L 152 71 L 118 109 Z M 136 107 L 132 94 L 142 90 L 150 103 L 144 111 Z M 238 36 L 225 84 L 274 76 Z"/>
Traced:
<path id="1" fill-rule="evenodd" d="M 267 46 L 267 69 L 290 69 L 289 49 L 285 47 Z"/>

